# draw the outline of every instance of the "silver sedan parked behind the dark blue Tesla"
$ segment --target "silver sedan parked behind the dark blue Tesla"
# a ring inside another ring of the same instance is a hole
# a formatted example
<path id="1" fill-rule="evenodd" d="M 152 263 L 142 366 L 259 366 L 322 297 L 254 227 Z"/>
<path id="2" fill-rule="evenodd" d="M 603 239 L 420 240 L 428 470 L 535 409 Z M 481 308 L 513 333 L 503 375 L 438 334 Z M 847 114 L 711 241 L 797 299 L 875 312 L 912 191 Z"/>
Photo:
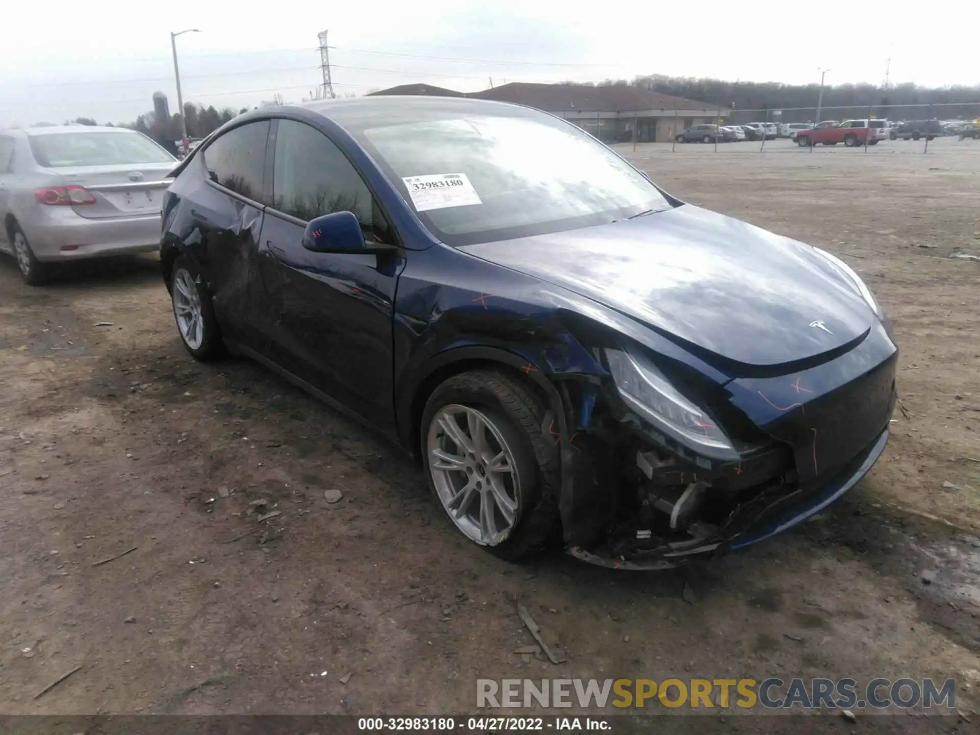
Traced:
<path id="1" fill-rule="evenodd" d="M 157 250 L 176 164 L 121 127 L 0 131 L 0 252 L 38 285 L 54 262 Z"/>

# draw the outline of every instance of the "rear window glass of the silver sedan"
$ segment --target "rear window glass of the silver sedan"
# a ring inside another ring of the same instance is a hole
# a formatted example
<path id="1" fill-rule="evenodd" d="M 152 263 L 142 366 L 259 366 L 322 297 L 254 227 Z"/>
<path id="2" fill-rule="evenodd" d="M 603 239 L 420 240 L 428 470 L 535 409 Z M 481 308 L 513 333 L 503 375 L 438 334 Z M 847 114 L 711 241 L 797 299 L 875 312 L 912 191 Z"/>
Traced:
<path id="1" fill-rule="evenodd" d="M 136 132 L 59 132 L 30 136 L 34 159 L 45 168 L 168 164 L 171 154 Z"/>

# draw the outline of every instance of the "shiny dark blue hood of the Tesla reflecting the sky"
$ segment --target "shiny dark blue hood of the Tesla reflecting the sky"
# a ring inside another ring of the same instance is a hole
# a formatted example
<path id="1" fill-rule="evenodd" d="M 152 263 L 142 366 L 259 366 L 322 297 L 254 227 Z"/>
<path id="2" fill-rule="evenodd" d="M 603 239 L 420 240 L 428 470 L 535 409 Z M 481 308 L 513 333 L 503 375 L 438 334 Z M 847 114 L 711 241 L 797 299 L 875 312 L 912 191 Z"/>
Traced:
<path id="1" fill-rule="evenodd" d="M 813 248 L 691 205 L 461 250 L 746 368 L 829 359 L 876 319 Z"/>

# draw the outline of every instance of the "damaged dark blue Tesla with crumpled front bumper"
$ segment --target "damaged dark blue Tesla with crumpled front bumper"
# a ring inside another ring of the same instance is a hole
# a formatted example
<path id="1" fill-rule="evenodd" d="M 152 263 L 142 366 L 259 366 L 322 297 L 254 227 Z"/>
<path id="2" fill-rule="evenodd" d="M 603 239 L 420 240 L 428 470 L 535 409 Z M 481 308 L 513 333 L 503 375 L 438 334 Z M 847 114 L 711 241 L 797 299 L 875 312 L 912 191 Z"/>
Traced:
<path id="1" fill-rule="evenodd" d="M 249 356 L 387 433 L 506 559 L 745 547 L 885 447 L 898 350 L 854 270 L 546 113 L 265 108 L 174 175 L 161 261 L 191 355 Z"/>

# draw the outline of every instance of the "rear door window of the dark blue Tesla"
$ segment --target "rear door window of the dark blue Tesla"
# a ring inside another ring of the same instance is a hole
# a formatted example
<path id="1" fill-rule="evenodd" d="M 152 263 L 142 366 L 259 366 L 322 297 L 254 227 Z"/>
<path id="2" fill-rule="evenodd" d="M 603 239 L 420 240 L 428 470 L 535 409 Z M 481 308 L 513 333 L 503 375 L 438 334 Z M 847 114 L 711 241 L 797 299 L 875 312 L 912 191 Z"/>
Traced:
<path id="1" fill-rule="evenodd" d="M 268 120 L 235 127 L 202 151 L 208 175 L 236 194 L 262 201 L 263 169 L 266 165 Z"/>

